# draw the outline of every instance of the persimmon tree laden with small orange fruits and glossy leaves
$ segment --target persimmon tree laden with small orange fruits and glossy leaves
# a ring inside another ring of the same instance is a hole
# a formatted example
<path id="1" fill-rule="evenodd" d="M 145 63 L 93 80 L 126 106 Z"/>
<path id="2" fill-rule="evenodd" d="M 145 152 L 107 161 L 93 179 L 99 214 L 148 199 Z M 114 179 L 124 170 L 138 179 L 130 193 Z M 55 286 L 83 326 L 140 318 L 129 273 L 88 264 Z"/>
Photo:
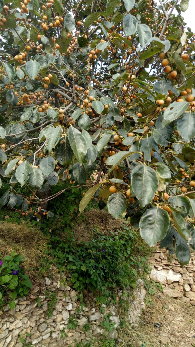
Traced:
<path id="1" fill-rule="evenodd" d="M 94 195 L 115 218 L 126 210 L 184 265 L 195 249 L 195 41 L 188 0 L 159 2 L 0 0 L 0 205 L 40 217 L 84 186 L 80 212 Z"/>

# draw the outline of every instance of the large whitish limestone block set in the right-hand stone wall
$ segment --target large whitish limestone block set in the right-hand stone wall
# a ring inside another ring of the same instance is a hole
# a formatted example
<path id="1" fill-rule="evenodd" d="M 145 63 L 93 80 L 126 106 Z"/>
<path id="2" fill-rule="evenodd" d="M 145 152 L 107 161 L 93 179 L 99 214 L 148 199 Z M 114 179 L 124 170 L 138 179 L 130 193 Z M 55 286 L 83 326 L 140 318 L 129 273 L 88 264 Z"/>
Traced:
<path id="1" fill-rule="evenodd" d="M 181 274 L 173 272 L 172 270 L 156 270 L 153 269 L 150 273 L 150 279 L 154 282 L 160 282 L 162 284 L 171 284 L 172 282 L 179 282 Z"/>

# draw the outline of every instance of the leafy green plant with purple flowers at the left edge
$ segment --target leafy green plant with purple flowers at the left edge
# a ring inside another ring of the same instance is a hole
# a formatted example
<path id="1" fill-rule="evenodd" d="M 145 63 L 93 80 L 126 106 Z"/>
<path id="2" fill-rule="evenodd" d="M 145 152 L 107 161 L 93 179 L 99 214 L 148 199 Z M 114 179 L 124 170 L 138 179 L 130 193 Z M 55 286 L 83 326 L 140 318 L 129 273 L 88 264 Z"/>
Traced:
<path id="1" fill-rule="evenodd" d="M 16 297 L 28 294 L 29 288 L 32 288 L 28 275 L 20 268 L 20 263 L 25 260 L 20 253 L 15 252 L 0 260 L 0 305 L 3 304 L 3 295 L 9 290 L 9 296 L 12 299 L 9 306 L 12 310 L 16 306 L 14 302 Z"/>

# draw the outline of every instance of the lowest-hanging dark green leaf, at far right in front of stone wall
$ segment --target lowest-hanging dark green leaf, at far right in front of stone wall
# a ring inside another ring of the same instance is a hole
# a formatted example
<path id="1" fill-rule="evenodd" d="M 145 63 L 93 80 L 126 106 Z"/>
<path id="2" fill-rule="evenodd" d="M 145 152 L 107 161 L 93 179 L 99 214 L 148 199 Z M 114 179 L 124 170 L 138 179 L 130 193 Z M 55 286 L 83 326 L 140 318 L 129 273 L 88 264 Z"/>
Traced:
<path id="1" fill-rule="evenodd" d="M 189 263 L 191 254 L 189 247 L 187 245 L 186 240 L 179 235 L 178 232 L 174 234 L 175 236 L 175 253 L 177 255 L 177 259 L 181 266 L 184 266 Z"/>

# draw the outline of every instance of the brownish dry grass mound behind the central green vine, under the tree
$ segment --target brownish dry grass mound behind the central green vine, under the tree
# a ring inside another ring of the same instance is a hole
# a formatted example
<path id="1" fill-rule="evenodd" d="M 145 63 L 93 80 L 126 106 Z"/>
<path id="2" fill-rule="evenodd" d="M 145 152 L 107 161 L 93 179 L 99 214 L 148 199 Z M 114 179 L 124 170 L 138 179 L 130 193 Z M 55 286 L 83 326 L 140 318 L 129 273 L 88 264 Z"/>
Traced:
<path id="1" fill-rule="evenodd" d="M 74 238 L 76 241 L 89 242 L 95 235 L 95 229 L 98 229 L 99 234 L 109 235 L 110 231 L 116 232 L 121 230 L 125 223 L 124 219 L 115 220 L 106 210 L 92 209 L 87 211 L 85 219 L 74 228 Z"/>

